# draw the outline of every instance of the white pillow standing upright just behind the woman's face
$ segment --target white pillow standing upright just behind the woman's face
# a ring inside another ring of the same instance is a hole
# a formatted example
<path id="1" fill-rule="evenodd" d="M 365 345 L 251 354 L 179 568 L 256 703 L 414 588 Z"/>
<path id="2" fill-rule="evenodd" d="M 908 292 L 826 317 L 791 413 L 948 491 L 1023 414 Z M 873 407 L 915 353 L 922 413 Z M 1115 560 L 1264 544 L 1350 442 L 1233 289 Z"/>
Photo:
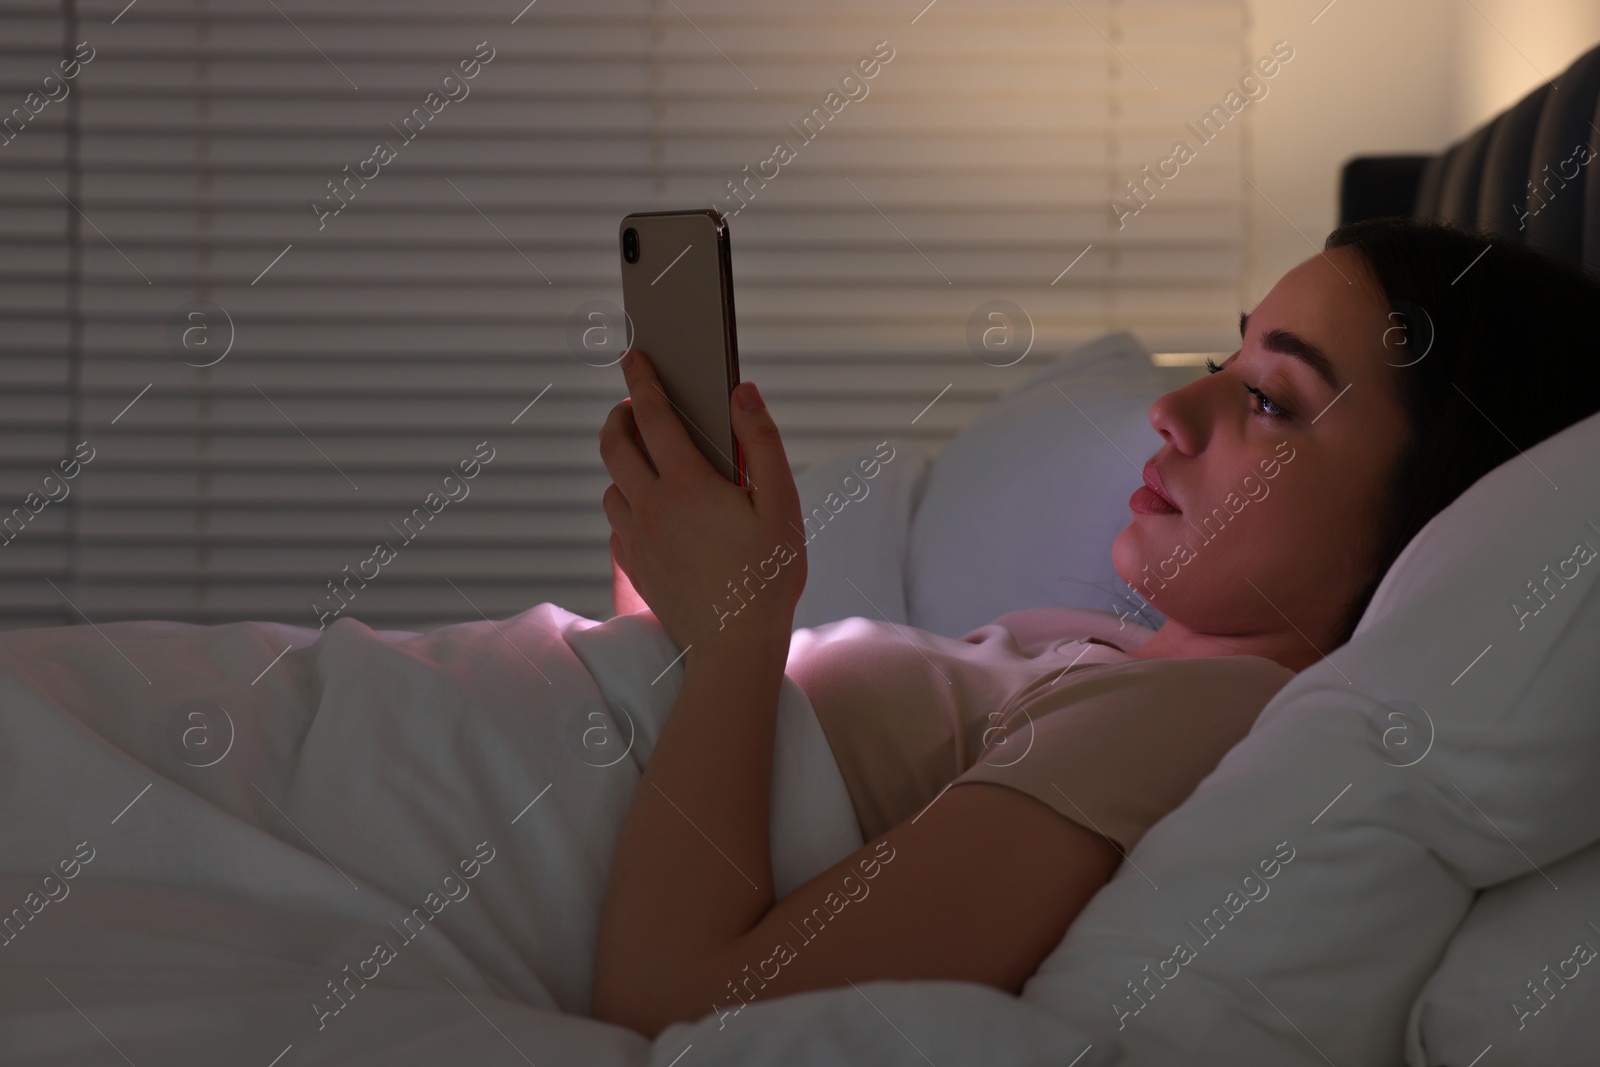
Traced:
<path id="1" fill-rule="evenodd" d="M 963 429 L 933 459 L 912 517 L 910 624 L 960 637 L 1008 611 L 1059 606 L 1142 611 L 1134 619 L 1158 627 L 1163 616 L 1112 569 L 1110 544 L 1162 443 L 1150 403 L 1197 373 L 1158 368 L 1114 333 L 1040 368 Z"/>

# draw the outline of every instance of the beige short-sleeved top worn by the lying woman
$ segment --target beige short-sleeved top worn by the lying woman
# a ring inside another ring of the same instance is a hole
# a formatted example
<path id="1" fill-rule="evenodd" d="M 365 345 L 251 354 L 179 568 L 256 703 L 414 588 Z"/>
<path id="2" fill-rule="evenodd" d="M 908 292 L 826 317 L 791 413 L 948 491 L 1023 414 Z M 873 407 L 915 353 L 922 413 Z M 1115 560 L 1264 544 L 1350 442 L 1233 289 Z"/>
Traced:
<path id="1" fill-rule="evenodd" d="M 1030 608 L 958 638 L 850 617 L 795 630 L 805 691 L 872 841 L 942 789 L 1021 790 L 1130 851 L 1294 672 L 1261 656 L 1136 659 L 1154 630 Z"/>

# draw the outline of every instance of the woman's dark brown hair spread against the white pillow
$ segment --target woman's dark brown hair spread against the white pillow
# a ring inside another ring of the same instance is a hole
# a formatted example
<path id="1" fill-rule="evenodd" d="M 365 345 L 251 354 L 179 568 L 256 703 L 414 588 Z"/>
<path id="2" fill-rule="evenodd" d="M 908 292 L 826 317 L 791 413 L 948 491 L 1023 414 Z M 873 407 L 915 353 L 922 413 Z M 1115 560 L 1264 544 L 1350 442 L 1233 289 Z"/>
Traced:
<path id="1" fill-rule="evenodd" d="M 1434 515 L 1600 411 L 1600 277 L 1504 237 L 1403 218 L 1341 226 L 1325 248 L 1355 251 L 1389 302 L 1381 347 L 1410 429 L 1342 645 Z"/>

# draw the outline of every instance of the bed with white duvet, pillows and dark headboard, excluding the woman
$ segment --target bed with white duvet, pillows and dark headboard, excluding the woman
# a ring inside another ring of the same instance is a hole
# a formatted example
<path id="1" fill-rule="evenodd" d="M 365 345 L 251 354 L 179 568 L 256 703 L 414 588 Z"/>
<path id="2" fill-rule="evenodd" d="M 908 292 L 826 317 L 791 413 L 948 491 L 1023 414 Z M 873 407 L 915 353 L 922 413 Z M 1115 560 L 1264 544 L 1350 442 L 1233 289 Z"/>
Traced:
<path id="1" fill-rule="evenodd" d="M 1582 117 L 1571 101 L 1592 118 L 1597 54 L 1562 75 L 1560 109 L 1518 104 L 1480 147 L 1352 165 L 1346 202 L 1365 166 L 1386 203 L 1410 173 L 1405 210 L 1464 210 L 1475 165 L 1488 203 L 1485 166 L 1523 146 L 1538 173 Z M 1584 181 L 1560 243 L 1594 264 Z M 1149 454 L 1144 411 L 1186 373 L 1110 334 L 936 456 L 888 438 L 870 480 L 870 445 L 813 464 L 802 502 L 832 518 L 797 627 L 870 614 L 958 635 L 1046 603 L 1157 624 L 1109 569 L 1136 478 L 1118 453 Z M 426 635 L 354 617 L 0 635 L 0 1059 L 1592 1062 L 1597 454 L 1600 416 L 1429 523 L 1355 637 L 1139 841 L 1021 997 L 862 982 L 707 1006 L 654 1041 L 586 1014 L 610 851 L 682 677 L 648 619 L 544 603 Z M 1066 458 L 1078 480 L 1032 491 Z M 1547 568 L 1558 595 L 1509 609 Z M 773 840 L 779 893 L 861 843 L 792 681 Z"/>

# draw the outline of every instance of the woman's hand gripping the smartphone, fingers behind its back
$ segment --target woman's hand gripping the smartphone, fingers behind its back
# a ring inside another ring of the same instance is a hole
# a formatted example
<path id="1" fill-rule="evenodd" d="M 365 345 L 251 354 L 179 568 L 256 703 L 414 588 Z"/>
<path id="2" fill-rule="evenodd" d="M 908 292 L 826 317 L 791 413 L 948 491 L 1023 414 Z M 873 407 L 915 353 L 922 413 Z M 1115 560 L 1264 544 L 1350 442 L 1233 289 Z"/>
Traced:
<path id="1" fill-rule="evenodd" d="M 787 638 L 806 577 L 800 494 L 755 384 L 730 397 L 750 483 L 739 488 L 694 446 L 643 354 L 624 357 L 622 374 L 630 395 L 600 430 L 618 566 L 678 648 L 730 632 Z"/>

